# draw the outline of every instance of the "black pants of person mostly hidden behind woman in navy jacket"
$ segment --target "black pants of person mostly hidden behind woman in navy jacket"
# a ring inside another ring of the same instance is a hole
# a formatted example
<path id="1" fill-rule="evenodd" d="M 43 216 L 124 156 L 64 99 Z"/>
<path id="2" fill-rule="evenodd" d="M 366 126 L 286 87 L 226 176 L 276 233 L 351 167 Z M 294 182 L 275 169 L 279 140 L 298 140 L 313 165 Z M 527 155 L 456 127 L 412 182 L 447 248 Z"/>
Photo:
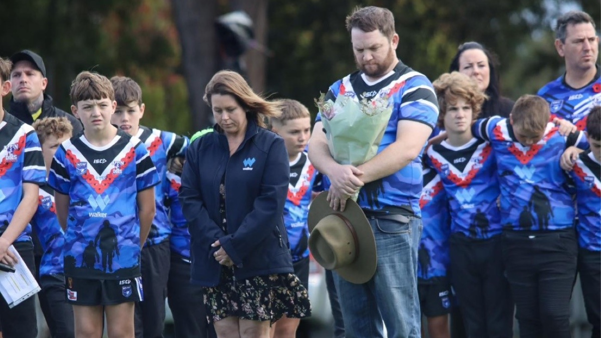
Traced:
<path id="1" fill-rule="evenodd" d="M 175 338 L 215 338 L 215 328 L 207 322 L 203 289 L 190 283 L 190 262 L 171 253 L 167 300 L 173 315 Z"/>

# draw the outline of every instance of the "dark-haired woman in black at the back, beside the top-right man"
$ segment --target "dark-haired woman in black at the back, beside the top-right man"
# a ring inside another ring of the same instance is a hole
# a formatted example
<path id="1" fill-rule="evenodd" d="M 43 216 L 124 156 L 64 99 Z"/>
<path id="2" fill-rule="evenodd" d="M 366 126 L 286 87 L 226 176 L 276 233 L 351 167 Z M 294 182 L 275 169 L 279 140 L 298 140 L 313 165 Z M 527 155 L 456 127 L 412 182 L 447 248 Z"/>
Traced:
<path id="1" fill-rule="evenodd" d="M 482 106 L 480 118 L 500 115 L 509 117 L 514 101 L 501 96 L 499 86 L 498 60 L 480 43 L 471 41 L 462 43 L 451 61 L 449 72 L 468 75 L 478 83 L 478 88 L 488 96 Z"/>

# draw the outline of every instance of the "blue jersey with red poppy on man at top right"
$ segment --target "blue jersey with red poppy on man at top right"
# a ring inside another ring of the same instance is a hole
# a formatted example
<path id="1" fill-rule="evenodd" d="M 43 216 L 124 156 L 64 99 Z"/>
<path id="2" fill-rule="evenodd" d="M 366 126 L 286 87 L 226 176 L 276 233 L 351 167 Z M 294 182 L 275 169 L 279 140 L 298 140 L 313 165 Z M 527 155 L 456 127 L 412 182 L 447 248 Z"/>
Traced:
<path id="1" fill-rule="evenodd" d="M 566 84 L 566 75 L 562 75 L 538 90 L 538 96 L 549 102 L 551 118 L 559 117 L 576 124 L 578 130 L 587 127 L 588 112 L 594 105 L 601 105 L 601 72 L 597 65 L 597 74 L 593 81 L 580 89 Z"/>

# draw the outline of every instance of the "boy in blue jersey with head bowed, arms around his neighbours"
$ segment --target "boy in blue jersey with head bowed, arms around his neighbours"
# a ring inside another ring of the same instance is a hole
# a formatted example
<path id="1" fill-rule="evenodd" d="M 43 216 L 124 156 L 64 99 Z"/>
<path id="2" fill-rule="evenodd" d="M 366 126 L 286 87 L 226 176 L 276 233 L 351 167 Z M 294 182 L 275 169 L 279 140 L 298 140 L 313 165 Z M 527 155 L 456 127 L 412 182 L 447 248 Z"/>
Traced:
<path id="1" fill-rule="evenodd" d="M 492 144 L 501 187 L 503 261 L 520 337 L 570 337 L 569 301 L 576 275 L 574 205 L 560 156 L 587 148 L 549 123 L 549 104 L 520 97 L 510 118 L 478 120 L 472 132 Z"/>

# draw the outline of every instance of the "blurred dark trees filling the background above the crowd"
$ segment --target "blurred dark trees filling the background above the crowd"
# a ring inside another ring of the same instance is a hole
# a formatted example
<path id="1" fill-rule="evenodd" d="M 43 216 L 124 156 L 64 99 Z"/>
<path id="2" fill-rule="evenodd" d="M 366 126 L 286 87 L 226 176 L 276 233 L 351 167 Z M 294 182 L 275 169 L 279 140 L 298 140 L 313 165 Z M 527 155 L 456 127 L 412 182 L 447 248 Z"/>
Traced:
<path id="1" fill-rule="evenodd" d="M 355 69 L 344 18 L 359 4 L 393 11 L 398 57 L 432 80 L 460 43 L 483 43 L 498 55 L 502 92 L 513 99 L 563 73 L 552 32 L 560 13 L 582 8 L 597 29 L 601 16 L 598 1 L 584 0 L 3 0 L 0 55 L 38 52 L 47 93 L 67 111 L 81 70 L 130 76 L 144 91 L 143 123 L 189 135 L 212 121 L 202 96 L 221 57 L 216 17 L 244 10 L 254 21 L 243 61 L 256 91 L 315 112 L 314 97 Z"/>

